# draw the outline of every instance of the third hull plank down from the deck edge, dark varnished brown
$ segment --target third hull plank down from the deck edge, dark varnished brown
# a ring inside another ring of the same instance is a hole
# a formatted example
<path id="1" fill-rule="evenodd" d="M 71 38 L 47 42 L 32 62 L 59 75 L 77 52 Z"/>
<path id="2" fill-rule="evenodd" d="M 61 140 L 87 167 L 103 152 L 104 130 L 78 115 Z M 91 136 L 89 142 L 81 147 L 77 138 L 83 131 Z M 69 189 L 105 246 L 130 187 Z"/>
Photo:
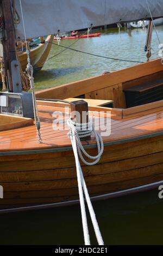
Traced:
<path id="1" fill-rule="evenodd" d="M 160 174 L 163 177 L 162 163 L 154 164 L 124 172 L 107 173 L 101 175 L 86 176 L 85 182 L 87 187 L 103 184 L 112 184 L 116 182 L 125 182 L 127 180 L 135 180 L 145 178 L 146 184 L 151 183 L 148 179 L 149 176 L 156 176 Z M 159 179 L 157 179 L 159 181 Z M 45 180 L 45 181 L 32 181 L 32 182 L 1 182 L 4 191 L 37 191 L 37 190 L 54 190 L 78 187 L 77 178 L 61 179 L 61 180 Z"/>

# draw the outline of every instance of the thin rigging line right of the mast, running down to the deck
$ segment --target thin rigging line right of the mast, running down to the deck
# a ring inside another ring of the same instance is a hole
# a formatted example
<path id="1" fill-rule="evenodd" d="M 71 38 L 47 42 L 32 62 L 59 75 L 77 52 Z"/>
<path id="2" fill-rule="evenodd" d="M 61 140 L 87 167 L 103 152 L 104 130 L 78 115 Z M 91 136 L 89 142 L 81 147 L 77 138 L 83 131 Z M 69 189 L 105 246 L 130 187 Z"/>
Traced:
<path id="1" fill-rule="evenodd" d="M 28 64 L 27 64 L 27 74 L 29 76 L 30 88 L 32 89 L 34 119 L 35 119 L 35 125 L 36 125 L 38 136 L 39 136 L 39 143 L 42 143 L 41 133 L 40 133 L 40 117 L 39 117 L 39 111 L 37 109 L 36 96 L 35 96 L 35 84 L 34 84 L 34 77 L 33 77 L 33 66 L 30 64 L 30 56 L 29 56 L 29 51 L 28 51 L 26 29 L 25 29 L 25 25 L 24 25 L 22 3 L 21 3 L 21 0 L 19 0 L 19 1 L 20 1 L 20 8 L 21 8 L 21 15 L 22 15 L 24 38 L 25 38 L 25 42 L 26 42 L 26 53 L 27 53 L 27 62 L 28 62 Z"/>

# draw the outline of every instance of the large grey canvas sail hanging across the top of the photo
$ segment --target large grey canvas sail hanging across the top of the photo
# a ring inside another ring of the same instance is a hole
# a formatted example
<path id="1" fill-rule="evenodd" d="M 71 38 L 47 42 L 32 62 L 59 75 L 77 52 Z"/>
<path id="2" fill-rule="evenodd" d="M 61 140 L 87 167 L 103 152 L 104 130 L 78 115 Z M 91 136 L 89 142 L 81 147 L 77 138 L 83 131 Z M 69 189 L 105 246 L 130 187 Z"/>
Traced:
<path id="1" fill-rule="evenodd" d="M 163 16 L 163 0 L 21 0 L 27 38 Z M 20 0 L 16 9 L 21 16 Z M 18 35 L 24 38 L 21 23 Z"/>

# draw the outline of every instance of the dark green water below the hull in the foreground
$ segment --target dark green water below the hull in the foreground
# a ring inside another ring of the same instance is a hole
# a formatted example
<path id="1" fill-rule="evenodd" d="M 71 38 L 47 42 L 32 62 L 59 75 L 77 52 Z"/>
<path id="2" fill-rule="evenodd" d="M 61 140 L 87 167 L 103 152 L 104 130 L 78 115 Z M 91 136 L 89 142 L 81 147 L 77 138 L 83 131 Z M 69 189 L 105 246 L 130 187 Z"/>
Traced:
<path id="1" fill-rule="evenodd" d="M 157 190 L 93 202 L 93 207 L 106 245 L 163 245 L 163 199 Z M 3 245 L 83 244 L 79 205 L 2 215 L 0 225 Z M 90 218 L 89 226 L 96 245 Z"/>

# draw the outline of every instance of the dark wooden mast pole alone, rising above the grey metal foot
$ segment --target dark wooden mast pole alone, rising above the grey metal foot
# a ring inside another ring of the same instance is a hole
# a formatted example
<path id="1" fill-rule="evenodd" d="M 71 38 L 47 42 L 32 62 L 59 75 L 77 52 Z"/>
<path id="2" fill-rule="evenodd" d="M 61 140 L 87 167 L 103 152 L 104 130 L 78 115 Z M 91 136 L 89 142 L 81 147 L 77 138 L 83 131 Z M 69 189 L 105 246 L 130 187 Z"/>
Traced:
<path id="1" fill-rule="evenodd" d="M 12 77 L 11 62 L 12 60 L 17 59 L 14 23 L 12 19 L 10 0 L 2 0 L 1 3 L 2 3 L 4 29 L 5 29 L 5 38 L 3 40 L 5 75 L 8 77 L 9 92 L 14 92 L 14 86 L 11 78 Z"/>

